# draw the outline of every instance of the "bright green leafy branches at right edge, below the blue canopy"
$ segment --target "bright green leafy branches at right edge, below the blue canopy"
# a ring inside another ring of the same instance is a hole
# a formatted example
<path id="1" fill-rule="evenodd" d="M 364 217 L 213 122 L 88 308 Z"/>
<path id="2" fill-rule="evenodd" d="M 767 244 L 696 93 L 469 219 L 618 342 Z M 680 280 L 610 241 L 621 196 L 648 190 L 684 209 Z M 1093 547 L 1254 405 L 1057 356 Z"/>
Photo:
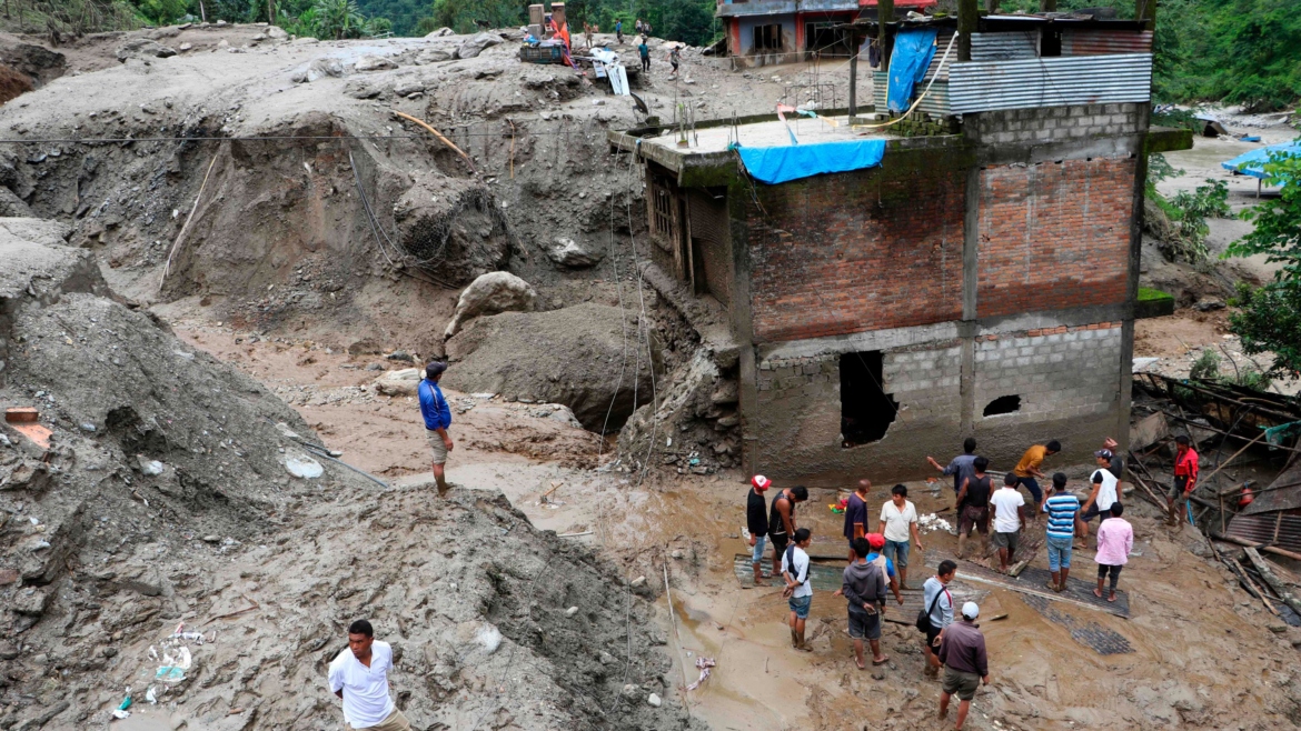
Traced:
<path id="1" fill-rule="evenodd" d="M 1263 254 L 1281 268 L 1259 289 L 1239 289 L 1239 310 L 1229 316 L 1229 329 L 1242 339 L 1246 352 L 1274 354 L 1270 375 L 1294 379 L 1301 371 L 1301 159 L 1275 155 L 1265 172 L 1265 182 L 1278 186 L 1279 196 L 1242 212 L 1254 229 L 1226 255 Z"/>

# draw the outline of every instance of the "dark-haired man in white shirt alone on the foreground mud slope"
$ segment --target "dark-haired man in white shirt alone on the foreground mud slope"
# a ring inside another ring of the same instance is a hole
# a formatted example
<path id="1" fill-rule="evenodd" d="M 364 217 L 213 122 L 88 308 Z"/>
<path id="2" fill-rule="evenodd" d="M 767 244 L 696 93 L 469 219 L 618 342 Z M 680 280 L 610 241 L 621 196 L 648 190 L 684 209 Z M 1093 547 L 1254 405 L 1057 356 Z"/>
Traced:
<path id="1" fill-rule="evenodd" d="M 375 628 L 358 619 L 347 628 L 347 649 L 329 663 L 329 689 L 343 698 L 347 731 L 411 731 L 389 697 L 393 648 L 375 641 Z"/>

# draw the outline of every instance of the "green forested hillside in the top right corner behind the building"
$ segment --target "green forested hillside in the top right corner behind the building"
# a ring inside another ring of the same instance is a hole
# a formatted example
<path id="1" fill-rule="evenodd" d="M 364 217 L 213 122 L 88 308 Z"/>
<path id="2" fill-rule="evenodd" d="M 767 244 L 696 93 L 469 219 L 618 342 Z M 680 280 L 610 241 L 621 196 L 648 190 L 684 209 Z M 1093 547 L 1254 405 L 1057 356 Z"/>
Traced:
<path id="1" fill-rule="evenodd" d="M 1280 109 L 1301 96 L 1301 13 L 1294 0 L 1162 0 L 1154 92 Z"/>

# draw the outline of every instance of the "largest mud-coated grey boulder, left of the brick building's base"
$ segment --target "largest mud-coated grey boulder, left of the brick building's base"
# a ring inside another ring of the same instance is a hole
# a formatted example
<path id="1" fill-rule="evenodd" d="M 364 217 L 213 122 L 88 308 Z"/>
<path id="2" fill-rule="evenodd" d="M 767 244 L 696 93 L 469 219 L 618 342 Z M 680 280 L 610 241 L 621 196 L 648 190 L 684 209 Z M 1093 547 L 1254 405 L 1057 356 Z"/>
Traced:
<path id="1" fill-rule="evenodd" d="M 550 312 L 479 317 L 448 341 L 442 382 L 454 390 L 563 403 L 593 432 L 614 432 L 650 401 L 661 347 L 618 307 L 579 304 Z"/>

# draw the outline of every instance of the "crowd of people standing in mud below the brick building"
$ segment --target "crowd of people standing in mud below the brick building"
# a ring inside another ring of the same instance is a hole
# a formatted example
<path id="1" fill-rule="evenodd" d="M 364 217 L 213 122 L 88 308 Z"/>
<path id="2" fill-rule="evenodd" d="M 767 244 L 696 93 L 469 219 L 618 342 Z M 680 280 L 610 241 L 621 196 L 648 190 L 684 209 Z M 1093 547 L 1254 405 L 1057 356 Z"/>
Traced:
<path id="1" fill-rule="evenodd" d="M 1196 485 L 1197 455 L 1187 438 L 1177 440 L 1180 457 L 1176 460 L 1176 484 L 1170 493 L 1171 515 L 1187 501 Z M 1016 552 L 1021 545 L 1021 531 L 1026 524 L 1037 524 L 1045 515 L 1045 545 L 1051 580 L 1047 588 L 1063 592 L 1071 570 L 1071 553 L 1077 537 L 1089 537 L 1089 524 L 1099 518 L 1097 528 L 1098 598 L 1116 601 L 1116 583 L 1120 570 L 1133 550 L 1133 528 L 1123 518 L 1120 502 L 1120 476 L 1124 463 L 1116 454 L 1116 442 L 1106 440 L 1094 453 L 1095 468 L 1089 475 L 1089 494 L 1082 501 L 1067 489 L 1067 476 L 1056 472 L 1051 477 L 1043 472 L 1045 460 L 1062 451 L 1058 441 L 1032 445 L 1016 467 L 1008 471 L 998 488 L 989 473 L 990 460 L 976 453 L 976 440 L 968 438 L 963 454 L 947 466 L 928 457 L 926 460 L 941 473 L 954 480 L 958 516 L 958 557 L 967 555 L 967 541 L 976 529 L 989 540 L 985 555 L 997 553 L 998 570 L 1011 572 L 1016 565 Z M 1183 464 L 1183 467 L 1179 467 Z M 1039 480 L 1049 484 L 1045 493 Z M 1029 493 L 1021 493 L 1021 488 Z M 755 584 L 762 585 L 773 576 L 785 583 L 782 592 L 790 609 L 791 645 L 811 652 L 805 636 L 805 623 L 813 602 L 811 561 L 808 549 L 813 533 L 796 523 L 796 509 L 809 499 L 803 485 L 775 489 L 771 501 L 766 494 L 773 481 L 762 475 L 751 479 L 747 498 L 747 529 L 752 548 L 751 567 Z M 848 633 L 853 640 L 855 662 L 866 667 L 865 650 L 870 648 L 872 663 L 881 665 L 890 658 L 881 652 L 882 614 L 889 600 L 903 604 L 902 591 L 908 587 L 909 553 L 924 550 L 917 531 L 917 509 L 908 499 L 907 485 L 895 485 L 890 499 L 881 505 L 876 532 L 869 532 L 868 494 L 869 480 L 860 480 L 855 492 L 843 502 L 844 538 L 848 544 L 848 566 L 835 596 L 844 597 L 848 613 Z M 993 533 L 990 533 L 993 518 Z M 764 566 L 766 544 L 771 542 L 771 571 Z M 959 698 L 956 727 L 961 728 L 969 704 L 980 683 L 989 683 L 989 663 L 985 640 L 976 624 L 980 607 L 965 602 L 955 607 L 948 584 L 958 574 L 958 563 L 942 561 L 933 576 L 922 584 L 922 611 L 917 628 L 924 632 L 922 650 L 926 665 L 924 674 L 942 680 L 939 715 L 948 713 L 951 696 Z M 1110 581 L 1110 584 L 1108 584 Z"/>

